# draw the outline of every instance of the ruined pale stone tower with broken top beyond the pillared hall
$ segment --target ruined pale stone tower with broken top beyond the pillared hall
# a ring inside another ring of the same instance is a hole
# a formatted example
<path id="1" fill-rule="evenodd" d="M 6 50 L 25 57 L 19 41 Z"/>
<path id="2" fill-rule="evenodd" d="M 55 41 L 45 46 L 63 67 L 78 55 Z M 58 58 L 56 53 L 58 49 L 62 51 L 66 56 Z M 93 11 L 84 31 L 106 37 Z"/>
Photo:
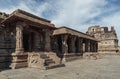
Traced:
<path id="1" fill-rule="evenodd" d="M 99 53 L 117 53 L 118 38 L 114 27 L 108 30 L 108 27 L 91 26 L 87 34 L 96 38 L 98 42 Z"/>

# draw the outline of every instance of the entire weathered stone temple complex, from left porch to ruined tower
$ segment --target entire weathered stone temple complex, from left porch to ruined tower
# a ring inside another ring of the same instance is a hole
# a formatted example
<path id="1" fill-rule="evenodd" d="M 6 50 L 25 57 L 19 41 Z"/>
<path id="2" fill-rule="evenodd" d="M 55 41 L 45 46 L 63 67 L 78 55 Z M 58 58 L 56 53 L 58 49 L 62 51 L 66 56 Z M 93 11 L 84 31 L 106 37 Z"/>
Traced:
<path id="1" fill-rule="evenodd" d="M 17 9 L 0 13 L 0 69 L 49 69 L 82 58 L 84 53 L 118 52 L 114 28 L 90 27 L 87 34 Z"/>

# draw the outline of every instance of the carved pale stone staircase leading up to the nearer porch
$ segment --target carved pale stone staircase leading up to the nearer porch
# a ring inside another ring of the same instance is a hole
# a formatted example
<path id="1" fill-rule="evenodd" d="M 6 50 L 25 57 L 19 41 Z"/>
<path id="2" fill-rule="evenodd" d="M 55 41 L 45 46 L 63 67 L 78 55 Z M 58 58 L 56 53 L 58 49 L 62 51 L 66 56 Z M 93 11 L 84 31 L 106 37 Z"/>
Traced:
<path id="1" fill-rule="evenodd" d="M 28 67 L 40 69 L 53 69 L 56 67 L 63 67 L 58 60 L 56 61 L 56 54 L 51 53 L 30 53 L 28 55 Z"/>

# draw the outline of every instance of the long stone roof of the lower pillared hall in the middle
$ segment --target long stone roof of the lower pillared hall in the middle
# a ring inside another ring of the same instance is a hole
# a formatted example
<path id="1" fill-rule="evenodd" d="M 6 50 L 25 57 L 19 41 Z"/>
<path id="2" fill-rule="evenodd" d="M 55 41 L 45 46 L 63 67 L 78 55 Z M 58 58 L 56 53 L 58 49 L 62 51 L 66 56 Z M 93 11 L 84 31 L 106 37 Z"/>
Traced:
<path id="1" fill-rule="evenodd" d="M 75 36 L 78 36 L 78 37 L 98 41 L 94 37 L 91 37 L 91 36 L 89 36 L 85 33 L 79 32 L 77 30 L 74 30 L 74 29 L 71 29 L 71 28 L 68 28 L 68 27 L 65 27 L 65 26 L 60 27 L 60 28 L 54 30 L 54 32 L 53 32 L 53 35 L 64 35 L 64 34 L 75 35 Z"/>

